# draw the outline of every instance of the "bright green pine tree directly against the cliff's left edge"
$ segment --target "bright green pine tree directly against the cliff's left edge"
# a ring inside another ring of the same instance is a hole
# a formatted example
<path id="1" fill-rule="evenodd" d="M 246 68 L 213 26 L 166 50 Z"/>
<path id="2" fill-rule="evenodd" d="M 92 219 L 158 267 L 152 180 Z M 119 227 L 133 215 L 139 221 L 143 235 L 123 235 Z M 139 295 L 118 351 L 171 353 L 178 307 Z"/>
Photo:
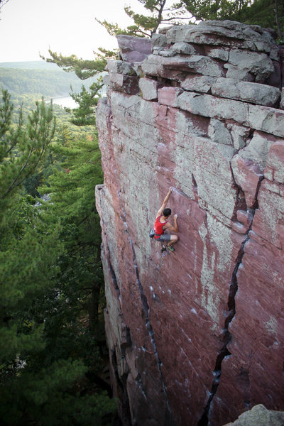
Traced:
<path id="1" fill-rule="evenodd" d="M 79 140 L 67 136 L 53 146 L 53 153 L 62 160 L 55 163 L 48 187 L 41 188 L 41 192 L 51 193 L 47 213 L 61 218 L 68 253 L 65 274 L 71 271 L 81 295 L 84 288 L 89 327 L 94 329 L 103 287 L 101 230 L 94 200 L 94 187 L 103 181 L 97 133 Z"/>

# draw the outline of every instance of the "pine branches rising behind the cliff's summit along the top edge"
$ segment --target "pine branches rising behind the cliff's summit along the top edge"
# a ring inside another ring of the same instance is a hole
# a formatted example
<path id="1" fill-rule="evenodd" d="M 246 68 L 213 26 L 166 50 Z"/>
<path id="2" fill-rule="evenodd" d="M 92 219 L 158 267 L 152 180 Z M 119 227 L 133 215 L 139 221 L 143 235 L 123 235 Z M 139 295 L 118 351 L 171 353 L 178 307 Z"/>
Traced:
<path id="1" fill-rule="evenodd" d="M 99 21 L 109 34 L 129 34 L 147 37 L 155 33 L 159 26 L 168 23 L 192 23 L 212 19 L 231 19 L 254 23 L 263 28 L 274 28 L 279 38 L 284 35 L 284 4 L 278 0 L 180 0 L 170 4 L 167 0 L 138 0 L 146 9 L 146 14 L 136 13 L 129 6 L 124 8 L 133 19 L 133 25 L 120 28 L 117 23 Z"/>

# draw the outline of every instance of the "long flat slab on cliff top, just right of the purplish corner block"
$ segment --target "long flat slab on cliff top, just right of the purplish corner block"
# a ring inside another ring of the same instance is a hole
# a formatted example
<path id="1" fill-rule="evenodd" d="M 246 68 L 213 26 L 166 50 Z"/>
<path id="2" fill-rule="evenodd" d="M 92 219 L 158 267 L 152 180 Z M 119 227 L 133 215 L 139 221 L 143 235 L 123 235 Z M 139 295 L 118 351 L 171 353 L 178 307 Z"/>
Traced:
<path id="1" fill-rule="evenodd" d="M 195 72 L 212 77 L 222 77 L 225 74 L 223 67 L 216 60 L 207 56 L 192 55 L 188 58 L 175 56 L 173 58 L 161 58 L 150 55 L 143 61 L 142 70 L 146 75 L 155 75 L 168 78 L 169 70 L 182 72 Z"/>

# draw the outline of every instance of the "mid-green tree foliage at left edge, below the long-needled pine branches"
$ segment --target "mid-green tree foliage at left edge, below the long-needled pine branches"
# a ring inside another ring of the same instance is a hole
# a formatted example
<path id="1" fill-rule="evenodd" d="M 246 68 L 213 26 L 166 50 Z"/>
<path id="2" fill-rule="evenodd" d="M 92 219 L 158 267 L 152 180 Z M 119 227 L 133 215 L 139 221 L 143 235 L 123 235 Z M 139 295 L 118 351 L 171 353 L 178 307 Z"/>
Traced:
<path id="1" fill-rule="evenodd" d="M 15 371 L 18 354 L 26 357 L 44 347 L 40 322 L 28 320 L 24 312 L 58 273 L 56 261 L 62 251 L 59 228 L 45 223 L 28 197 L 17 195 L 6 208 L 1 227 L 1 328 L 0 376 Z"/>

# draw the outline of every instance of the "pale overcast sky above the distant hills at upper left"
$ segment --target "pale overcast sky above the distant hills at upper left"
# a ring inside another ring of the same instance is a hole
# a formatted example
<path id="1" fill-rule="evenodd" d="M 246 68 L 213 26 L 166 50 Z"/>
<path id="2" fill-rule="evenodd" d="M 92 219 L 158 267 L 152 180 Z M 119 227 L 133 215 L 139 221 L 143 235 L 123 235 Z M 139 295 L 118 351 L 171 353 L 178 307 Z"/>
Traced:
<path id="1" fill-rule="evenodd" d="M 124 12 L 129 5 L 143 11 L 137 0 L 9 0 L 0 13 L 0 62 L 40 60 L 49 47 L 92 59 L 100 46 L 117 47 L 94 18 L 124 28 L 131 23 Z"/>

